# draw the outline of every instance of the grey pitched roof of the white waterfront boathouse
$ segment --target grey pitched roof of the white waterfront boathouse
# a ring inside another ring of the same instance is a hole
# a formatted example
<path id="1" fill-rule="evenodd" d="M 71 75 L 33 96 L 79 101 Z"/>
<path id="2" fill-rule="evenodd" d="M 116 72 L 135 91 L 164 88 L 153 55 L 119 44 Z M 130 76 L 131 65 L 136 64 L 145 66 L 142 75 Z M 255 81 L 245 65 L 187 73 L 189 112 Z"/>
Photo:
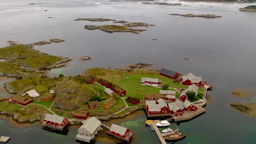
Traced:
<path id="1" fill-rule="evenodd" d="M 83 125 L 78 129 L 78 131 L 85 128 L 87 131 L 93 134 L 101 124 L 102 122 L 100 122 L 97 118 L 92 117 L 84 121 Z"/>

